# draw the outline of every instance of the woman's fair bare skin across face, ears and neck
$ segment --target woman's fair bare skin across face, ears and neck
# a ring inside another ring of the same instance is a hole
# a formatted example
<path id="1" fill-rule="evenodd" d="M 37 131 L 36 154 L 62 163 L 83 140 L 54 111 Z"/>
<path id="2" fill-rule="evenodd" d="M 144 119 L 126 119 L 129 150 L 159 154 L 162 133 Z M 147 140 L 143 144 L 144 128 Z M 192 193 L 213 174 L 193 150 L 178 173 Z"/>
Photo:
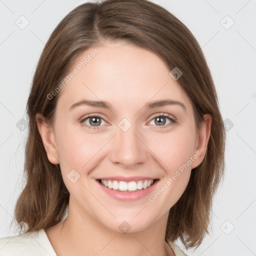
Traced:
<path id="1" fill-rule="evenodd" d="M 164 241 L 168 211 L 182 195 L 191 169 L 203 160 L 211 116 L 204 116 L 197 132 L 189 97 L 156 54 L 126 42 L 105 42 L 97 49 L 61 90 L 53 125 L 36 114 L 48 159 L 60 163 L 70 192 L 66 219 L 45 232 L 58 255 L 174 255 Z M 92 50 L 83 52 L 70 70 Z M 88 105 L 69 110 L 82 99 L 107 101 L 112 110 Z M 160 99 L 180 101 L 186 111 L 179 105 L 143 107 Z M 157 125 L 155 117 L 162 113 L 176 122 L 166 117 L 165 124 Z M 89 114 L 102 118 L 99 128 L 86 127 L 89 118 L 80 122 Z M 131 124 L 125 132 L 118 127 L 122 118 Z M 116 200 L 95 181 L 103 176 L 152 176 L 159 179 L 152 195 L 198 151 L 200 156 L 154 202 L 148 196 Z M 74 183 L 67 177 L 72 169 L 80 175 Z M 131 227 L 127 233 L 118 228 L 122 221 Z"/>

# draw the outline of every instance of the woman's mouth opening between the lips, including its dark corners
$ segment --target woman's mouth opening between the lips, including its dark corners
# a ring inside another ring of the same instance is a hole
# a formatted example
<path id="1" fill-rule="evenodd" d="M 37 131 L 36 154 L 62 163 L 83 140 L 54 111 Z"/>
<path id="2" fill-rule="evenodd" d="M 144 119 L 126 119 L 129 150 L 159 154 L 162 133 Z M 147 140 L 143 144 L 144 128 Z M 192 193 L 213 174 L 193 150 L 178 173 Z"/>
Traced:
<path id="1" fill-rule="evenodd" d="M 102 186 L 111 190 L 120 192 L 137 192 L 139 190 L 145 190 L 155 184 L 159 179 L 144 178 L 140 180 L 115 180 L 115 179 L 96 179 Z"/>

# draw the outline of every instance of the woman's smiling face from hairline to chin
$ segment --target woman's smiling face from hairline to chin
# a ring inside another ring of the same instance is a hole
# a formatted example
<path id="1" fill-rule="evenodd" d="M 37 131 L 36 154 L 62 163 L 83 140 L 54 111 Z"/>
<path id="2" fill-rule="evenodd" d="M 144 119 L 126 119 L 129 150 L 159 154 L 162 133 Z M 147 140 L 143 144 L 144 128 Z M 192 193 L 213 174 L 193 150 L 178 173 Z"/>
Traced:
<path id="1" fill-rule="evenodd" d="M 58 92 L 47 150 L 60 162 L 69 210 L 116 231 L 167 217 L 208 136 L 196 132 L 192 105 L 170 71 L 156 54 L 124 42 L 76 59 Z"/>

